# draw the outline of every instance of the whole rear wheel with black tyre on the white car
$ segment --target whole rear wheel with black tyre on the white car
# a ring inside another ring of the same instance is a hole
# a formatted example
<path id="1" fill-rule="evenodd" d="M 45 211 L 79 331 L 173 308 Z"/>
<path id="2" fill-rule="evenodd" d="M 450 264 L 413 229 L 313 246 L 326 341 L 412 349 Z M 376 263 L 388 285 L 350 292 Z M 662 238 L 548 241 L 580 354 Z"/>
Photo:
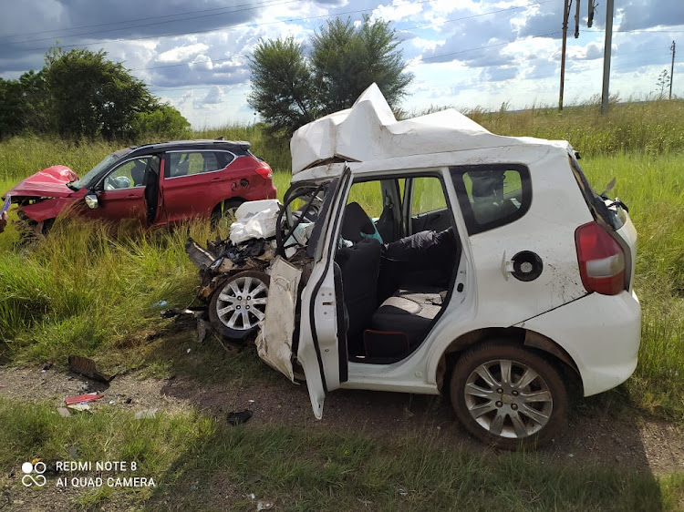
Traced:
<path id="1" fill-rule="evenodd" d="M 472 435 L 499 448 L 534 448 L 565 425 L 567 391 L 553 364 L 505 342 L 463 353 L 451 375 L 451 405 Z"/>

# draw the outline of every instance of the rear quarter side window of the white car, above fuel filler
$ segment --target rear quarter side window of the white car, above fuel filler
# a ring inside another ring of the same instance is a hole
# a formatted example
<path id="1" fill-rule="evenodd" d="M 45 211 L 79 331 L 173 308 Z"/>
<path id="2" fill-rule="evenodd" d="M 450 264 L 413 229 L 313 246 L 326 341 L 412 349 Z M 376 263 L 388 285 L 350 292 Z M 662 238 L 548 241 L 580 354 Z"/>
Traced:
<path id="1" fill-rule="evenodd" d="M 451 178 L 470 234 L 518 220 L 530 208 L 530 171 L 524 166 L 452 167 Z"/>

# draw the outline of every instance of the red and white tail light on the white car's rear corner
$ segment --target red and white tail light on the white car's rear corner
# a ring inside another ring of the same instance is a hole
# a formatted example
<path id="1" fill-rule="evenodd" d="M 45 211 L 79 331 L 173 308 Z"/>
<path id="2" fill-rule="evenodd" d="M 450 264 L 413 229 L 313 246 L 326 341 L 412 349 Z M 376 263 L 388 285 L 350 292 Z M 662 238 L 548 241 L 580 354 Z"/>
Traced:
<path id="1" fill-rule="evenodd" d="M 575 230 L 579 274 L 587 292 L 617 295 L 625 288 L 625 252 L 596 222 Z"/>

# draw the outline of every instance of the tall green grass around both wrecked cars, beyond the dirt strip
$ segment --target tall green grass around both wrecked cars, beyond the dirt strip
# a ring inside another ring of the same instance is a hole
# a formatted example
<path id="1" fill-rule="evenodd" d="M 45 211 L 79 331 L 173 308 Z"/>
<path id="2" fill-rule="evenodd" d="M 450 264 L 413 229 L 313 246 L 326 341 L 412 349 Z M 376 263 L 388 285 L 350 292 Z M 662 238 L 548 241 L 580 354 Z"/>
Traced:
<path id="1" fill-rule="evenodd" d="M 472 114 L 495 132 L 567 138 L 577 148 L 596 140 L 605 145 L 589 146 L 581 164 L 596 189 L 617 177 L 612 193 L 630 207 L 639 234 L 635 288 L 643 306 L 643 338 L 627 395 L 633 404 L 680 424 L 684 422 L 683 105 L 680 101 L 627 104 L 612 108 L 608 117 L 591 106 L 567 108 L 562 114 L 543 109 Z M 624 144 L 608 143 L 602 134 L 613 138 L 622 134 Z M 219 135 L 250 140 L 254 152 L 272 162 L 282 198 L 290 179 L 286 142 L 266 138 L 258 126 L 195 134 L 197 138 Z M 54 163 L 89 169 L 115 148 L 116 143 L 55 138 L 6 140 L 0 143 L 0 188 L 8 189 L 16 180 Z M 350 200 L 358 200 L 368 211 L 378 210 L 373 208 L 377 190 L 368 189 L 372 186 L 355 185 Z M 197 272 L 183 250 L 188 232 L 199 241 L 215 236 L 198 222 L 174 232 L 123 230 L 119 237 L 95 224 L 63 222 L 57 223 L 47 241 L 18 249 L 18 235 L 10 226 L 0 236 L 0 340 L 5 340 L 0 342 L 0 358 L 40 363 L 63 361 L 72 352 L 107 354 L 102 359 L 109 364 L 166 371 L 171 354 L 181 350 L 183 334 L 174 333 L 171 343 L 164 345 L 169 351 L 166 359 L 158 346 L 163 341 L 144 340 L 150 333 L 169 330 L 169 323 L 161 321 L 151 303 L 166 300 L 170 306 L 184 306 L 192 301 Z"/>

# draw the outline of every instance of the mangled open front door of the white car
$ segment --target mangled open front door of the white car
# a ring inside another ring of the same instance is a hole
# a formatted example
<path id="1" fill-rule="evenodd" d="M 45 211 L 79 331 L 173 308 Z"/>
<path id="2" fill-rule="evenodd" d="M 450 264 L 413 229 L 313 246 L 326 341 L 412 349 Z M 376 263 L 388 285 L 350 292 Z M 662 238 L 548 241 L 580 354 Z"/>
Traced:
<path id="1" fill-rule="evenodd" d="M 351 172 L 345 169 L 326 191 L 306 245 L 306 253 L 311 258 L 306 263 L 311 265 L 306 282 L 300 286 L 301 265 L 286 261 L 286 250 L 281 251 L 281 256 L 276 259 L 271 271 L 264 325 L 255 342 L 259 356 L 290 380 L 294 381 L 293 359 L 301 365 L 314 415 L 318 419 L 323 415 L 326 393 L 347 380 L 342 282 L 339 270 L 336 270 L 335 251 L 350 180 Z M 285 194 L 285 209 L 291 203 L 288 195 L 289 191 Z M 305 206 L 301 218 L 306 218 L 306 213 Z M 287 214 L 291 229 L 278 236 L 281 249 L 293 240 L 291 235 L 296 225 L 302 223 L 294 220 L 289 211 Z M 297 297 L 299 290 L 300 296 Z M 298 330 L 295 325 L 297 302 Z"/>

